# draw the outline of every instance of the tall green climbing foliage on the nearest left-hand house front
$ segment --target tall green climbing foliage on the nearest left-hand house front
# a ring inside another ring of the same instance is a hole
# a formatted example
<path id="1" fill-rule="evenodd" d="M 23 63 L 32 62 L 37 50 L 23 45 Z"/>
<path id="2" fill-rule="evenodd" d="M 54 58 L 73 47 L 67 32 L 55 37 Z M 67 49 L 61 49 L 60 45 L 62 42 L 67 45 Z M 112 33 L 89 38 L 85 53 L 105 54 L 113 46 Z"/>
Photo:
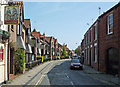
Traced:
<path id="1" fill-rule="evenodd" d="M 25 53 L 23 48 L 18 48 L 16 50 L 16 61 L 15 61 L 15 66 L 16 66 L 16 72 L 23 72 L 25 68 Z"/>

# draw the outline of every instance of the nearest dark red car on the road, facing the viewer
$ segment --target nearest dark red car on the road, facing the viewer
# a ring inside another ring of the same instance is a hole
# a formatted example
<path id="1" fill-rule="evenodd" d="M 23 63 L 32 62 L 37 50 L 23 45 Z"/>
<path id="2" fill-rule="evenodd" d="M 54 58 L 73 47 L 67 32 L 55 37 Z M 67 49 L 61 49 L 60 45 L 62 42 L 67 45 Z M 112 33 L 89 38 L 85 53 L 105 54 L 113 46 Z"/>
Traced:
<path id="1" fill-rule="evenodd" d="M 81 69 L 83 70 L 83 65 L 80 63 L 80 59 L 72 59 L 70 63 L 70 69 Z"/>

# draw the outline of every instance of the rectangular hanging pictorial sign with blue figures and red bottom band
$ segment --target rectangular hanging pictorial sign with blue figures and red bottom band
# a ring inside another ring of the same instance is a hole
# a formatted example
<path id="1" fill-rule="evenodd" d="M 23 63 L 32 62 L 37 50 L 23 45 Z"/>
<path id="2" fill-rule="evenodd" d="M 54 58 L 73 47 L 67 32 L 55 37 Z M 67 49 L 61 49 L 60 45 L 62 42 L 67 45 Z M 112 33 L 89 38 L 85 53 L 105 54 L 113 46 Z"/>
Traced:
<path id="1" fill-rule="evenodd" d="M 5 6 L 4 24 L 19 24 L 20 8 L 19 6 Z"/>

